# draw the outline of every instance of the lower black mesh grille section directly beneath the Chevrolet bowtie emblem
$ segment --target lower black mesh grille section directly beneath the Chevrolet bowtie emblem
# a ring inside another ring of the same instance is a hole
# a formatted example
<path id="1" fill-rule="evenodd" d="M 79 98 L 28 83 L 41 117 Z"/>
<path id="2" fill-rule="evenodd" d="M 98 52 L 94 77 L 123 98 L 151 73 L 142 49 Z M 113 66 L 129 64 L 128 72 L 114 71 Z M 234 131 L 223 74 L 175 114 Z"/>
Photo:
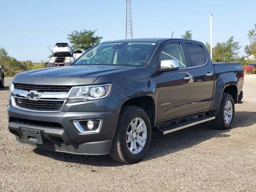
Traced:
<path id="1" fill-rule="evenodd" d="M 41 111 L 59 111 L 64 101 L 52 100 L 29 100 L 26 98 L 15 98 L 16 105 L 21 108 Z"/>

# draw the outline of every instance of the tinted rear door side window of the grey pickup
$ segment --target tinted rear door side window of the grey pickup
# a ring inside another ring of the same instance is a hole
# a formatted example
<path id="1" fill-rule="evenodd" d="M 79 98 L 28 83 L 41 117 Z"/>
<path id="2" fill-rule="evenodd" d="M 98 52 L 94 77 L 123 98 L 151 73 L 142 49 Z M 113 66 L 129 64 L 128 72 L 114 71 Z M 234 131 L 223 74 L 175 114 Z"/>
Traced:
<path id="1" fill-rule="evenodd" d="M 206 63 L 206 57 L 202 46 L 197 44 L 186 43 L 188 54 L 190 56 L 191 65 L 199 66 Z"/>

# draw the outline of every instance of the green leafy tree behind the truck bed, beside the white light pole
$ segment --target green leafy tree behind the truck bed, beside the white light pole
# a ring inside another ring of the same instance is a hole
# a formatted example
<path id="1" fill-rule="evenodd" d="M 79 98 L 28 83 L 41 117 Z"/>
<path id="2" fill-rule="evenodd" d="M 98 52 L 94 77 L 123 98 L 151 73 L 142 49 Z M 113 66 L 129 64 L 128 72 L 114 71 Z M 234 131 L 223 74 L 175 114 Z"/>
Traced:
<path id="1" fill-rule="evenodd" d="M 214 62 L 230 62 L 236 60 L 239 49 L 239 42 L 234 42 L 234 37 L 231 36 L 226 42 L 218 42 L 212 49 L 212 60 Z"/>

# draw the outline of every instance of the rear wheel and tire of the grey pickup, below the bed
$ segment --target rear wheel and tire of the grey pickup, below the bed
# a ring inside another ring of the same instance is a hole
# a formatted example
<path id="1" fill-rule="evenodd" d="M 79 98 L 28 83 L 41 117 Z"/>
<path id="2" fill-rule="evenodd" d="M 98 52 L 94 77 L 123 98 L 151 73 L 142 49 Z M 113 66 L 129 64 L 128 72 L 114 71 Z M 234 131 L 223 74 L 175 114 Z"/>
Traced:
<path id="1" fill-rule="evenodd" d="M 226 110 L 226 104 L 230 106 L 228 108 L 229 110 Z M 224 112 L 226 113 L 226 115 L 224 114 Z M 234 100 L 230 94 L 224 93 L 220 103 L 218 116 L 216 116 L 216 118 L 212 120 L 214 129 L 226 130 L 231 128 L 234 121 L 234 114 L 235 114 Z M 226 116 L 227 118 L 225 119 Z"/>

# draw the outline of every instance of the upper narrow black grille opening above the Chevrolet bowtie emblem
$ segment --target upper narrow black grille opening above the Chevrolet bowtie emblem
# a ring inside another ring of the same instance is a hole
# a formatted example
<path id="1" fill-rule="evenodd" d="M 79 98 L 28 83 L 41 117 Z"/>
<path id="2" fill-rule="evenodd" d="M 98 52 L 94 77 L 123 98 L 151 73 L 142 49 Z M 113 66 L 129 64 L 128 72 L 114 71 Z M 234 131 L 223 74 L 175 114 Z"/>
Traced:
<path id="1" fill-rule="evenodd" d="M 14 88 L 18 90 L 37 91 L 37 92 L 69 92 L 72 86 L 56 86 L 56 85 L 31 85 L 31 84 L 14 84 Z"/>

